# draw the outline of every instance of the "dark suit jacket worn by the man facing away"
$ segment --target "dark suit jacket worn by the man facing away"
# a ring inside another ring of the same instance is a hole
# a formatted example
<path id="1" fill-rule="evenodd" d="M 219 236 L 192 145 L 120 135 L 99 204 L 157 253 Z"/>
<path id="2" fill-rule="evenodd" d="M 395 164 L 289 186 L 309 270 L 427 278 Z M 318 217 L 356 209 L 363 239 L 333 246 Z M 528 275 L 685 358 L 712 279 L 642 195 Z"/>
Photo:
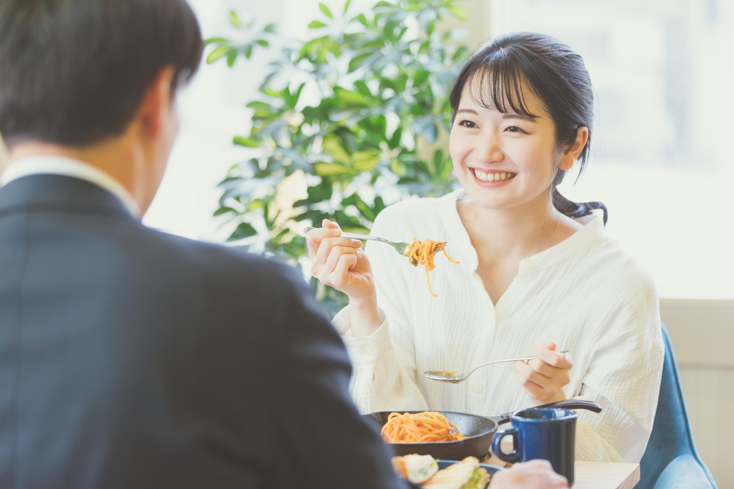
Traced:
<path id="1" fill-rule="evenodd" d="M 0 189 L 0 488 L 403 488 L 297 272 L 107 191 Z"/>

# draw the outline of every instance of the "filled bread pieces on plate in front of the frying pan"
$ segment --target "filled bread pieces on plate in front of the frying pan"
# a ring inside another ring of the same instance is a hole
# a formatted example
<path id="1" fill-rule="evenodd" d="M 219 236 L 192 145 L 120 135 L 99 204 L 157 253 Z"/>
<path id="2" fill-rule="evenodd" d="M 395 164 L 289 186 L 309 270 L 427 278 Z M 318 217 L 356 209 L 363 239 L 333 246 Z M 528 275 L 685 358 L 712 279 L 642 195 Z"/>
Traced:
<path id="1" fill-rule="evenodd" d="M 490 482 L 490 474 L 479 466 L 476 457 L 466 457 L 437 471 L 437 460 L 430 455 L 405 455 L 393 457 L 393 467 L 399 477 L 423 489 L 484 489 Z"/>

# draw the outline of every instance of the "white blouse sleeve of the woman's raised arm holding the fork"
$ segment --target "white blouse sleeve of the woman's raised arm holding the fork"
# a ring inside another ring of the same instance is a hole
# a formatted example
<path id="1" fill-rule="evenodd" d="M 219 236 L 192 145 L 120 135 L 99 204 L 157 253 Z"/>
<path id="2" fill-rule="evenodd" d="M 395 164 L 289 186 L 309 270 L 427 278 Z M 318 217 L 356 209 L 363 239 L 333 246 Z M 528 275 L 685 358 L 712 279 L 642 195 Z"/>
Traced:
<path id="1" fill-rule="evenodd" d="M 393 217 L 389 207 L 383 210 L 374 221 L 372 233 L 389 236 Z M 349 391 L 362 413 L 424 411 L 428 404 L 415 383 L 415 343 L 407 309 L 410 298 L 404 277 L 396 272 L 407 260 L 397 262 L 405 259 L 382 243 L 369 243 L 366 253 L 377 285 L 382 325 L 368 337 L 352 337 L 349 306 L 334 318 L 333 324 L 352 361 Z"/>

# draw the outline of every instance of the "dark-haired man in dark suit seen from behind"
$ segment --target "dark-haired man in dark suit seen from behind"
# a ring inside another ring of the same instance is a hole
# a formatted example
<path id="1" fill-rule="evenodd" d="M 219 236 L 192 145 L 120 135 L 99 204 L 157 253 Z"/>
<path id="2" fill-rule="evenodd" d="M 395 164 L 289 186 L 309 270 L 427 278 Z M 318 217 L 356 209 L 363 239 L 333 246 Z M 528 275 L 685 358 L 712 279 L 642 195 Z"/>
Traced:
<path id="1" fill-rule="evenodd" d="M 183 0 L 0 1 L 0 487 L 407 487 L 295 271 L 140 223 L 201 50 Z"/>

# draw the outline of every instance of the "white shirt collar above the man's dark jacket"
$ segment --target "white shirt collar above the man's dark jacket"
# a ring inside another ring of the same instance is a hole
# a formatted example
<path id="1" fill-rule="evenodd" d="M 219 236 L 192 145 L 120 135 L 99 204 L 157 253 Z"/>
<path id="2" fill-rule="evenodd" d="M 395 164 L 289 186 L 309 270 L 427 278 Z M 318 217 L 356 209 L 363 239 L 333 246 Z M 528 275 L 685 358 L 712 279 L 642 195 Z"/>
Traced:
<path id="1" fill-rule="evenodd" d="M 140 206 L 123 184 L 89 163 L 63 156 L 37 155 L 13 161 L 0 175 L 0 186 L 7 185 L 18 178 L 37 174 L 61 175 L 85 180 L 116 196 L 136 218 L 142 217 Z"/>

